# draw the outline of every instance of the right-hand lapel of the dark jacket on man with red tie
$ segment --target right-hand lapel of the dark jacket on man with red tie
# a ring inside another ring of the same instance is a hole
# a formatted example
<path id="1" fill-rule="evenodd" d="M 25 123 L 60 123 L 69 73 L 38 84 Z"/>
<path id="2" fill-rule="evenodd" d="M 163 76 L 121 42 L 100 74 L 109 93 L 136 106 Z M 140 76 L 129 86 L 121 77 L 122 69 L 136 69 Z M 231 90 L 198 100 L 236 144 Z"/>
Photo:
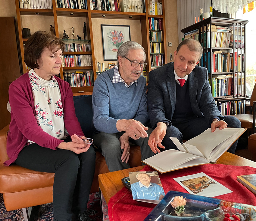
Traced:
<path id="1" fill-rule="evenodd" d="M 194 71 L 192 71 L 189 74 L 188 80 L 189 80 L 189 98 L 190 98 L 191 107 L 192 107 L 192 110 L 196 110 L 196 107 L 198 107 L 198 103 L 196 100 L 198 78 L 197 78 L 197 76 L 195 76 Z"/>

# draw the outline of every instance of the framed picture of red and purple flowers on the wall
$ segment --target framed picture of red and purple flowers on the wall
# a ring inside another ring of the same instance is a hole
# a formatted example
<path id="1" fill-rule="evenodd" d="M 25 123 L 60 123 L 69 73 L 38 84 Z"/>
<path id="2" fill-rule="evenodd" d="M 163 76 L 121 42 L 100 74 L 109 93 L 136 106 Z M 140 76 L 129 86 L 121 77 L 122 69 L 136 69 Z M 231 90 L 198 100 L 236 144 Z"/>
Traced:
<path id="1" fill-rule="evenodd" d="M 131 40 L 130 25 L 101 25 L 104 61 L 117 60 L 117 51 Z"/>

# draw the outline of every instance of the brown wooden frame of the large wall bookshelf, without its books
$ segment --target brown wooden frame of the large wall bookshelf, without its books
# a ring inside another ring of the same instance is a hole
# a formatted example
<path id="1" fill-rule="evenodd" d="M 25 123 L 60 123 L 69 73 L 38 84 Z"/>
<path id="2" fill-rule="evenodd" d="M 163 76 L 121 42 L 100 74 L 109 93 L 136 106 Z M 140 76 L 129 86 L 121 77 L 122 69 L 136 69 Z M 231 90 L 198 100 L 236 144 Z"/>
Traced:
<path id="1" fill-rule="evenodd" d="M 148 77 L 149 71 L 151 69 L 156 68 L 154 65 L 151 65 L 151 52 L 150 52 L 150 44 L 152 43 L 150 38 L 149 38 L 149 19 L 154 18 L 154 19 L 161 19 L 162 23 L 162 29 L 161 35 L 161 53 L 155 53 L 154 55 L 159 55 L 161 56 L 162 63 L 166 64 L 167 61 L 167 50 L 166 50 L 166 31 L 165 31 L 165 12 L 164 12 L 164 0 L 158 0 L 159 3 L 161 3 L 162 7 L 162 15 L 151 15 L 150 12 L 148 11 L 148 0 L 143 0 L 144 4 L 144 11 L 145 12 L 123 12 L 123 11 L 103 11 L 103 10 L 92 10 L 90 7 L 90 0 L 86 0 L 87 3 L 87 9 L 71 9 L 71 8 L 60 8 L 56 7 L 55 0 L 52 0 L 52 9 L 25 9 L 25 8 L 20 8 L 19 5 L 19 0 L 15 0 L 16 4 L 16 13 L 17 13 L 17 27 L 18 27 L 18 35 L 19 35 L 19 46 L 20 46 L 20 53 L 21 53 L 21 61 L 22 61 L 22 74 L 26 73 L 28 69 L 26 68 L 26 64 L 24 63 L 24 48 L 23 44 L 27 41 L 27 39 L 23 38 L 22 36 L 22 15 L 39 15 L 39 16 L 52 16 L 54 24 L 52 24 L 55 27 L 55 33 L 56 37 L 62 37 L 60 36 L 60 30 L 63 27 L 60 25 L 60 20 L 61 17 L 70 17 L 67 19 L 72 19 L 74 17 L 80 17 L 83 19 L 86 19 L 86 27 L 87 27 L 87 44 L 90 44 L 90 49 L 91 51 L 85 51 L 85 52 L 77 52 L 77 51 L 69 51 L 65 52 L 64 55 L 69 55 L 69 56 L 74 56 L 74 55 L 90 55 L 91 56 L 91 62 L 92 66 L 82 66 L 82 67 L 61 67 L 60 70 L 60 77 L 61 79 L 64 79 L 63 72 L 75 72 L 75 71 L 91 71 L 93 73 L 94 79 L 97 77 L 96 70 L 97 68 L 97 63 L 95 62 L 95 44 L 97 44 L 98 41 L 101 41 L 101 37 L 98 35 L 93 35 L 93 25 L 92 25 L 92 19 L 94 18 L 100 18 L 102 19 L 101 24 L 104 24 L 104 19 L 119 19 L 120 22 L 122 19 L 132 19 L 132 20 L 139 20 L 140 25 L 141 25 L 141 36 L 142 36 L 142 46 L 145 49 L 146 53 L 146 62 L 148 65 L 146 66 L 146 74 L 144 73 L 144 76 Z M 57 1 L 58 2 L 58 1 Z M 57 4 L 58 6 L 58 4 Z M 66 19 L 66 18 L 65 18 Z M 25 27 L 24 27 L 25 28 Z M 28 27 L 30 28 L 30 27 Z M 70 27 L 71 28 L 71 27 Z M 132 27 L 131 27 L 132 28 Z M 33 33 L 31 33 L 33 34 Z M 72 38 L 72 35 L 70 36 L 70 39 Z M 83 36 L 81 36 L 83 38 Z M 70 41 L 70 40 L 68 40 Z M 83 41 L 83 40 L 82 40 Z M 158 43 L 158 42 L 156 42 Z M 103 53 L 103 52 L 102 52 Z M 152 54 L 153 55 L 153 54 Z M 107 62 L 107 61 L 106 61 Z M 81 86 L 81 87 L 71 87 L 73 94 L 76 95 L 76 93 L 89 93 L 92 92 L 93 86 Z"/>

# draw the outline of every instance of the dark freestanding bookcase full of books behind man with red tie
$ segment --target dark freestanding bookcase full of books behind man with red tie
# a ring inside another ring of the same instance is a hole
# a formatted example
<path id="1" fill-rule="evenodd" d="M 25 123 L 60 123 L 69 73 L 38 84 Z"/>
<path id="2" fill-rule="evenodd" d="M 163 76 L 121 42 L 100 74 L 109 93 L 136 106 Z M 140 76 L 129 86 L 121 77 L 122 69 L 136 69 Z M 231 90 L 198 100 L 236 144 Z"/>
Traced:
<path id="1" fill-rule="evenodd" d="M 198 65 L 208 69 L 213 97 L 224 115 L 245 113 L 247 23 L 247 20 L 210 17 L 181 30 L 185 39 L 201 42 L 203 55 Z M 231 113 L 226 110 L 229 104 L 233 105 Z"/>

